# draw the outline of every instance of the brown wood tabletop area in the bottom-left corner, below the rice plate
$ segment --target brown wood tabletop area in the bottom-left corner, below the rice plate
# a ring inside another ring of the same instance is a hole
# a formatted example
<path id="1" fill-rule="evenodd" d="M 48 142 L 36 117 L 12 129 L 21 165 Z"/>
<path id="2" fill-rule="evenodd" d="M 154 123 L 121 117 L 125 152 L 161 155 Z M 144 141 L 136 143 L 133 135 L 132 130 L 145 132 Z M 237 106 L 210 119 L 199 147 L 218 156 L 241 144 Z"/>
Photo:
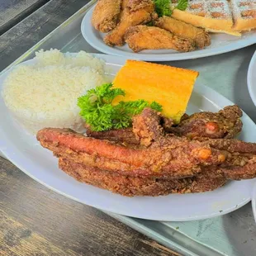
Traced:
<path id="1" fill-rule="evenodd" d="M 179 255 L 0 158 L 0 255 Z"/>

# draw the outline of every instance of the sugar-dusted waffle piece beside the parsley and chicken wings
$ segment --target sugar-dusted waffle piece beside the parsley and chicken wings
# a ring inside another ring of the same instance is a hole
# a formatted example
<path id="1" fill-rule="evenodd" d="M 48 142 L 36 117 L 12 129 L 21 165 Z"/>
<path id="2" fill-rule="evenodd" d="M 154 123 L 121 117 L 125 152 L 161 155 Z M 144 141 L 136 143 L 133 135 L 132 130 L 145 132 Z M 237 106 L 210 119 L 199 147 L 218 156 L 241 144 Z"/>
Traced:
<path id="1" fill-rule="evenodd" d="M 186 11 L 174 9 L 172 17 L 193 26 L 203 27 L 206 31 L 240 36 L 239 31 L 233 28 L 230 2 L 226 0 L 189 0 Z"/>

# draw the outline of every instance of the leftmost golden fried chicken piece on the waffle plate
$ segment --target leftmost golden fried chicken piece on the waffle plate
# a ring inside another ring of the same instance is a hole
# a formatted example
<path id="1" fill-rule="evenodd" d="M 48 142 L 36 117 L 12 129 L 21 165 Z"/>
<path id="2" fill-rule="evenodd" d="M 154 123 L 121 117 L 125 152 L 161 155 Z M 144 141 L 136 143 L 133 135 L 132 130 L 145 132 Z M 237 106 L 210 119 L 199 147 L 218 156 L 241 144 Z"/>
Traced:
<path id="1" fill-rule="evenodd" d="M 92 26 L 107 33 L 116 27 L 121 12 L 121 0 L 98 0 L 92 12 Z"/>

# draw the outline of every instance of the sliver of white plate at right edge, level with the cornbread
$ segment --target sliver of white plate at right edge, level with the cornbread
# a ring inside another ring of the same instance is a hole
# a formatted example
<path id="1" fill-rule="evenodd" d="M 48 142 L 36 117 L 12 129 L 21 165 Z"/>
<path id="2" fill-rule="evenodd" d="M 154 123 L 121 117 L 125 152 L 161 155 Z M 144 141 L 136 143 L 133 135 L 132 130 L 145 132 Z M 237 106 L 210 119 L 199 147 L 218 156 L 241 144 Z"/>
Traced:
<path id="1" fill-rule="evenodd" d="M 251 96 L 254 105 L 256 106 L 256 51 L 249 63 L 249 69 L 247 73 L 247 85 L 249 89 L 249 95 Z"/>

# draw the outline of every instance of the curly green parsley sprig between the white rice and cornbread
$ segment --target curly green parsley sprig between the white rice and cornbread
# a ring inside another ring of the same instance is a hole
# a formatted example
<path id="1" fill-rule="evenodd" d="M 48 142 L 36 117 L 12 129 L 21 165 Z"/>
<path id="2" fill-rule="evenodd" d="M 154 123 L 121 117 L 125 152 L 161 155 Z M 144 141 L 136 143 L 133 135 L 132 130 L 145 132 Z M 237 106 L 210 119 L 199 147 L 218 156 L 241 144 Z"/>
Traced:
<path id="1" fill-rule="evenodd" d="M 80 116 L 91 126 L 92 130 L 102 131 L 121 129 L 131 125 L 131 118 L 140 114 L 145 107 L 162 111 L 162 106 L 157 102 L 149 103 L 145 100 L 119 102 L 112 105 L 116 96 L 125 96 L 126 92 L 120 88 L 112 88 L 112 83 L 105 83 L 87 94 L 78 97 Z"/>

